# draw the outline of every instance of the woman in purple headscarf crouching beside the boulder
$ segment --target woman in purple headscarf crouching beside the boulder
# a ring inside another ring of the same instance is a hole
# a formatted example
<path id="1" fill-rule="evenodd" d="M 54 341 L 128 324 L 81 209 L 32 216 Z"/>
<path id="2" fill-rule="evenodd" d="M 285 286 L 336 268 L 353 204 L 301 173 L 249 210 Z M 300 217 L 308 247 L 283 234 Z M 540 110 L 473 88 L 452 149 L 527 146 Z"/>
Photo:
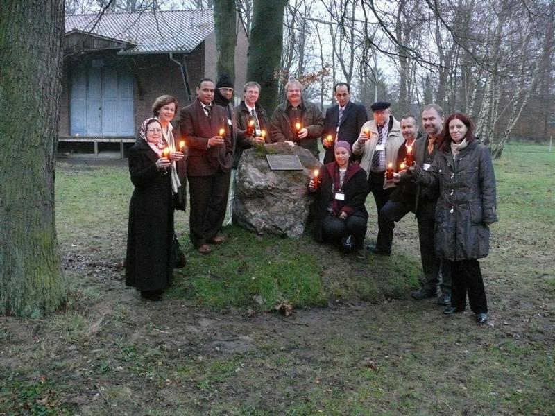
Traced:
<path id="1" fill-rule="evenodd" d="M 324 239 L 341 244 L 343 249 L 354 249 L 364 257 L 364 236 L 368 212 L 364 206 L 368 194 L 366 171 L 350 161 L 351 146 L 347 141 L 337 141 L 335 162 L 321 169 L 321 184 L 314 179 L 309 190 L 317 192 L 314 218 L 314 239 Z"/>

